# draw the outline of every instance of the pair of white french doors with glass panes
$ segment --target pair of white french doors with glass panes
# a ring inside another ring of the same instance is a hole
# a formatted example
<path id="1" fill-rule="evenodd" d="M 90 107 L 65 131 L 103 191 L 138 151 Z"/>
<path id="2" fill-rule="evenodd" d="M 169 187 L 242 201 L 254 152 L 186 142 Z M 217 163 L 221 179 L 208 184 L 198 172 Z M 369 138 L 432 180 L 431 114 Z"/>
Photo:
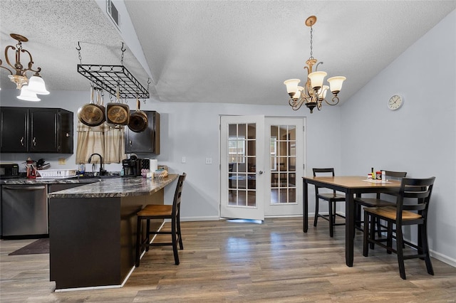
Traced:
<path id="1" fill-rule="evenodd" d="M 303 118 L 222 116 L 220 216 L 302 215 Z"/>

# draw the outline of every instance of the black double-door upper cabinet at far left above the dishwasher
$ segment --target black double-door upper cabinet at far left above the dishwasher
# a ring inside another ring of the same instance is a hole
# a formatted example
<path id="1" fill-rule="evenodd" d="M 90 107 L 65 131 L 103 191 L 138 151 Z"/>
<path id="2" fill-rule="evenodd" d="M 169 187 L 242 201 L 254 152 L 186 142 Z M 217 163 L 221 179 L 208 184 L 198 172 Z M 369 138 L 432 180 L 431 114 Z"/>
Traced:
<path id="1" fill-rule="evenodd" d="M 73 153 L 73 112 L 60 108 L 0 107 L 2 153 Z"/>

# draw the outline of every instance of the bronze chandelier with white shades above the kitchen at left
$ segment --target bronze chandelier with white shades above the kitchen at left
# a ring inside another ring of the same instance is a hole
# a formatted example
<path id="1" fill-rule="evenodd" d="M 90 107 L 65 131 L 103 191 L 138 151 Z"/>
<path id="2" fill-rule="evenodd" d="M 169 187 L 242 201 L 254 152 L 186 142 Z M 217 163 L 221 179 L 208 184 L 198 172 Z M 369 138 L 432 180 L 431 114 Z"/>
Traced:
<path id="1" fill-rule="evenodd" d="M 41 72 L 41 68 L 33 70 L 33 58 L 31 57 L 31 53 L 22 48 L 22 42 L 27 42 L 28 38 L 17 33 L 11 33 L 9 36 L 17 41 L 16 47 L 6 46 L 5 48 L 5 60 L 12 70 L 2 65 L 3 61 L 1 59 L 0 68 L 4 68 L 9 71 L 10 75 L 8 75 L 8 78 L 11 82 L 16 83 L 16 89 L 21 90 L 21 95 L 17 97 L 18 99 L 26 101 L 39 101 L 40 99 L 36 97 L 36 94 L 48 95 L 49 92 L 46 90 L 44 80 L 39 74 Z M 14 50 L 14 64 L 11 64 L 11 60 L 9 59 L 9 50 Z M 21 63 L 21 53 L 26 53 L 30 59 L 25 66 Z M 34 73 L 30 79 L 27 78 L 28 72 Z"/>

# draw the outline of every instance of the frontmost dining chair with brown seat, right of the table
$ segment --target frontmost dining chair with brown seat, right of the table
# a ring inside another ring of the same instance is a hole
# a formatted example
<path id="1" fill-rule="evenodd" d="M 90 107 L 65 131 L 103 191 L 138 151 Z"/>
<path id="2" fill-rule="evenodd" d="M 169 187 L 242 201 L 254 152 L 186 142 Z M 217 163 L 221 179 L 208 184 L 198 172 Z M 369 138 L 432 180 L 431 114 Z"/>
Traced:
<path id="1" fill-rule="evenodd" d="M 398 255 L 400 277 L 404 280 L 404 260 L 420 258 L 425 260 L 427 273 L 434 275 L 427 244 L 427 211 L 435 177 L 427 179 L 404 178 L 400 184 L 400 191 L 395 206 L 364 208 L 364 237 L 363 255 L 368 256 L 369 243 L 380 245 L 388 252 Z M 407 203 L 404 200 L 407 199 Z M 375 238 L 375 219 L 385 220 L 388 223 L 387 238 Z M 396 245 L 393 248 L 393 225 L 395 225 Z M 403 239 L 403 226 L 418 225 L 418 245 Z M 386 244 L 385 244 L 386 243 Z M 404 246 L 414 248 L 410 254 L 404 254 Z"/>

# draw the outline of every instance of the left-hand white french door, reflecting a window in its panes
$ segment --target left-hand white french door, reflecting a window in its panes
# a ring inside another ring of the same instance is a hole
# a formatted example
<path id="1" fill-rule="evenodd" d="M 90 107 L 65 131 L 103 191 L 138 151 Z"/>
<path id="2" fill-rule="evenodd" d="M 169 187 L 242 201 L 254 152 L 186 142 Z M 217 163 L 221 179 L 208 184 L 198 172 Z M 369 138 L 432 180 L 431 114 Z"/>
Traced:
<path id="1" fill-rule="evenodd" d="M 264 117 L 221 118 L 221 216 L 263 220 Z"/>

